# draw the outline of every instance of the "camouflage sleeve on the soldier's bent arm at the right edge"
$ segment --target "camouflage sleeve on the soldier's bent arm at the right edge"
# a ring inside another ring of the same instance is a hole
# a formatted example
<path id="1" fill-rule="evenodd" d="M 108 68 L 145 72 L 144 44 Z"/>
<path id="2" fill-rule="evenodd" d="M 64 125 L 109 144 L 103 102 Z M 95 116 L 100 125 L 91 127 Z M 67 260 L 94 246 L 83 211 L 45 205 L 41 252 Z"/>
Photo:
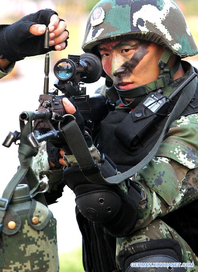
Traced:
<path id="1" fill-rule="evenodd" d="M 133 232 L 198 198 L 198 114 L 174 121 L 156 157 L 133 176 L 144 197 Z"/>

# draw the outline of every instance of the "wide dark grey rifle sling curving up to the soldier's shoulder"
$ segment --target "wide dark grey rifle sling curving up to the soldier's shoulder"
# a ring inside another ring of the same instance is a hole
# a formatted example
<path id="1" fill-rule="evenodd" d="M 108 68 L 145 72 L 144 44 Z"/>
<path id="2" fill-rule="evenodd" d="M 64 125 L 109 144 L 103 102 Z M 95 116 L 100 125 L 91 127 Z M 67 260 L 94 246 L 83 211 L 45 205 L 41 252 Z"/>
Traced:
<path id="1" fill-rule="evenodd" d="M 78 125 L 75 121 L 71 121 L 69 124 L 65 125 L 62 130 L 65 134 L 65 139 L 69 145 L 69 148 L 71 149 L 72 153 L 74 154 L 79 167 L 82 171 L 82 173 L 87 177 L 89 181 L 92 183 L 106 183 L 106 184 L 119 184 L 123 180 L 126 180 L 127 178 L 133 176 L 135 173 L 137 173 L 139 170 L 141 170 L 143 167 L 145 167 L 155 156 L 160 144 L 163 141 L 163 138 L 168 130 L 168 127 L 171 125 L 171 123 L 174 120 L 177 120 L 177 118 L 180 116 L 180 114 L 183 112 L 184 108 L 187 107 L 187 105 L 192 100 L 197 85 L 197 78 L 193 79 L 187 87 L 183 89 L 181 92 L 181 95 L 171 112 L 164 129 L 155 144 L 155 146 L 152 148 L 152 150 L 149 152 L 149 154 L 141 161 L 139 164 L 134 166 L 133 168 L 129 169 L 128 171 L 109 177 L 107 179 L 104 179 L 102 174 L 100 173 L 99 169 L 97 168 L 97 165 L 95 164 L 89 150 L 87 147 L 87 144 L 81 134 L 80 129 L 78 128 Z"/>

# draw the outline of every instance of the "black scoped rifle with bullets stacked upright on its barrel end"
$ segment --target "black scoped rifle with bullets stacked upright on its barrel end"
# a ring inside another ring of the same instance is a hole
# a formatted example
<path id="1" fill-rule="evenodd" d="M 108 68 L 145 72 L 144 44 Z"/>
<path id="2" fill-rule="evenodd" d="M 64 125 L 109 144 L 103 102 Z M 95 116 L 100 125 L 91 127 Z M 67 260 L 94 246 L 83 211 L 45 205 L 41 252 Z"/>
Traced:
<path id="1" fill-rule="evenodd" d="M 49 31 L 45 34 L 45 48 L 49 46 Z M 94 54 L 68 55 L 68 59 L 59 60 L 54 66 L 54 74 L 57 77 L 54 86 L 56 89 L 49 91 L 49 53 L 45 56 L 45 79 L 43 94 L 39 97 L 40 105 L 33 112 L 33 132 L 28 135 L 28 140 L 33 147 L 40 147 L 42 141 L 50 140 L 56 146 L 64 145 L 65 138 L 61 127 L 66 118 L 73 118 L 65 112 L 62 99 L 67 97 L 73 105 L 78 106 L 85 125 L 96 135 L 99 124 L 109 112 L 107 102 L 102 94 L 86 95 L 84 83 L 96 82 L 103 73 L 101 60 Z M 63 95 L 59 96 L 59 90 Z M 21 121 L 28 121 L 28 113 L 22 112 Z M 12 142 L 20 139 L 20 133 L 10 132 L 3 145 L 10 147 Z"/>

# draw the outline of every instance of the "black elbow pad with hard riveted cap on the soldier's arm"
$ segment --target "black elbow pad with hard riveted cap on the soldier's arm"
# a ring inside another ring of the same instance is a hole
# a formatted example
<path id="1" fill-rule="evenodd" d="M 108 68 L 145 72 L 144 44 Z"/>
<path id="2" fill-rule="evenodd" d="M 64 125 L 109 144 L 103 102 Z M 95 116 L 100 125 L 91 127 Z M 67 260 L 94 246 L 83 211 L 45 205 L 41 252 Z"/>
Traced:
<path id="1" fill-rule="evenodd" d="M 103 164 L 105 163 L 106 159 Z M 107 164 L 107 168 L 109 167 L 110 163 Z M 111 176 L 117 173 L 115 169 L 114 174 L 113 169 L 108 169 L 106 174 L 107 172 L 111 172 Z M 114 237 L 123 237 L 133 229 L 141 200 L 141 190 L 135 183 L 130 181 L 128 193 L 117 185 L 91 183 L 78 165 L 65 169 L 63 178 L 66 185 L 74 191 L 76 205 L 87 219 L 101 223 Z"/>

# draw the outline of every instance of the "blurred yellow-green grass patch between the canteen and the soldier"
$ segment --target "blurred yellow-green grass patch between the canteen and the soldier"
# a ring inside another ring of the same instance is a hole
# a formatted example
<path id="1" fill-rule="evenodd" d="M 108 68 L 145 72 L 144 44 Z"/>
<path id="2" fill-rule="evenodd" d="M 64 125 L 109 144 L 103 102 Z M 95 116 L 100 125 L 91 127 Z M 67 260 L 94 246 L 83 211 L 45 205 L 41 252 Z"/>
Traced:
<path id="1" fill-rule="evenodd" d="M 59 254 L 59 272 L 84 272 L 82 264 L 82 249 L 77 248 L 68 253 Z"/>

